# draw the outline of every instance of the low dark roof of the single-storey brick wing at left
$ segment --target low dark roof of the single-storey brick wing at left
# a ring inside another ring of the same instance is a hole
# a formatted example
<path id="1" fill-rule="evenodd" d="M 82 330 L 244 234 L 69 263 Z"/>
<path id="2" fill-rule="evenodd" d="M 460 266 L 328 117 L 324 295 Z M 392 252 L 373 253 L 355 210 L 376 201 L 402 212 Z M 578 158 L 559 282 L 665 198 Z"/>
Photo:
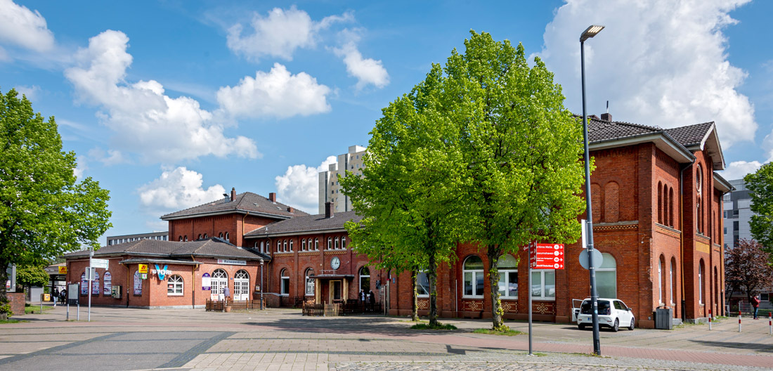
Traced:
<path id="1" fill-rule="evenodd" d="M 101 247 L 94 251 L 94 257 L 109 255 L 135 255 L 146 257 L 233 257 L 247 260 L 271 260 L 267 255 L 233 246 L 226 240 L 210 237 L 206 240 L 188 242 L 138 240 Z M 88 257 L 89 251 L 64 254 L 66 258 Z"/>

